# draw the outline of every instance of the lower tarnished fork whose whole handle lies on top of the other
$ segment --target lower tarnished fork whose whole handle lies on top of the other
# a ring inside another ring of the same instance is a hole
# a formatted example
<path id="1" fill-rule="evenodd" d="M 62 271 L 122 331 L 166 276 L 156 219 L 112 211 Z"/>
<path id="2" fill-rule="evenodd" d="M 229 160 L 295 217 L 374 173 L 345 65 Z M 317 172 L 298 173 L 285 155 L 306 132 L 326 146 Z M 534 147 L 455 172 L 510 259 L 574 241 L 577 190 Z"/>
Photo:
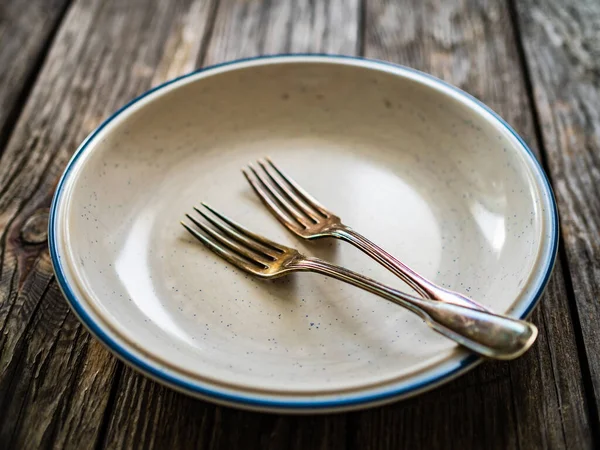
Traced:
<path id="1" fill-rule="evenodd" d="M 193 225 L 181 224 L 214 253 L 260 278 L 277 278 L 291 272 L 336 278 L 407 308 L 435 331 L 489 358 L 514 359 L 537 337 L 535 325 L 526 321 L 408 295 L 343 267 L 304 256 L 248 231 L 206 203 L 202 205 L 204 209 L 194 208 L 199 216 L 186 214 Z"/>

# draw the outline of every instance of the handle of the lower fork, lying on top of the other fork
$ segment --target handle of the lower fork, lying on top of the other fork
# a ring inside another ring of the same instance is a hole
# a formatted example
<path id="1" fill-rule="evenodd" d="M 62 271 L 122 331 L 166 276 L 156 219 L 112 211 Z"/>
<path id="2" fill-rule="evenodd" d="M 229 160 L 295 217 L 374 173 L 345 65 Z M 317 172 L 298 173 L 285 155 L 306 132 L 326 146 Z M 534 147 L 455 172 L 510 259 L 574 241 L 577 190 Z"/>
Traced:
<path id="1" fill-rule="evenodd" d="M 403 306 L 419 315 L 435 331 L 489 358 L 517 358 L 531 347 L 538 334 L 536 326 L 524 320 L 417 298 L 318 258 L 304 258 L 293 268 L 336 278 Z"/>

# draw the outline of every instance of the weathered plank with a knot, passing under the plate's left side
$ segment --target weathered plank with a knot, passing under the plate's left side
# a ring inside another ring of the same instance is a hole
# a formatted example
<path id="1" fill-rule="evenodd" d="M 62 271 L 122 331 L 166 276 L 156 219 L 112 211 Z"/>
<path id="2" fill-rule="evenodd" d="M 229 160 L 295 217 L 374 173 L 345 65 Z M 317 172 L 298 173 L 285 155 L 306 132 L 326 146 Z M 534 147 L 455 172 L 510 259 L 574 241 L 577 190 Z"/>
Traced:
<path id="1" fill-rule="evenodd" d="M 68 158 L 101 119 L 194 66 L 211 7 L 79 0 L 61 25 L 0 160 L 0 448 L 98 440 L 118 363 L 53 280 L 48 206 Z"/>

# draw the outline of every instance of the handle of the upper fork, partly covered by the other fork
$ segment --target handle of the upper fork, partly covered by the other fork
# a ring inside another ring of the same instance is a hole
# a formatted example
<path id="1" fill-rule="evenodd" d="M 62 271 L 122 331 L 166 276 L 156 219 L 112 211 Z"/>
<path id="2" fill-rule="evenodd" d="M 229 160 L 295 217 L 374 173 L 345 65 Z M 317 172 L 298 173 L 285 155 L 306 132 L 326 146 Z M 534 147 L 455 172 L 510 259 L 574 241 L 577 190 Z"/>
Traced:
<path id="1" fill-rule="evenodd" d="M 340 228 L 335 229 L 333 234 L 337 238 L 349 242 L 356 248 L 365 252 L 379 264 L 400 277 L 402 281 L 404 281 L 411 288 L 417 291 L 419 295 L 425 298 L 439 300 L 445 303 L 452 303 L 459 306 L 465 306 L 467 308 L 474 308 L 480 311 L 489 311 L 486 307 L 480 305 L 467 296 L 438 286 L 422 275 L 419 275 L 402 261 L 396 259 L 393 255 L 389 254 L 377 244 L 371 242 L 369 239 L 354 231 L 350 227 L 342 225 Z"/>

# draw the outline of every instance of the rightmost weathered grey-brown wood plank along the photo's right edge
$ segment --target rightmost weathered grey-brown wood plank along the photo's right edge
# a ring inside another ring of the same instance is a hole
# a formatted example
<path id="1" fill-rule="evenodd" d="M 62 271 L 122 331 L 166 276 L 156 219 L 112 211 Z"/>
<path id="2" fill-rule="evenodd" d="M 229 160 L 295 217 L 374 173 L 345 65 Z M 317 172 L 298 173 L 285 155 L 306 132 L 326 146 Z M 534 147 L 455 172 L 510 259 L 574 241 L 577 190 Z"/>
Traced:
<path id="1" fill-rule="evenodd" d="M 516 6 L 598 411 L 600 3 L 528 0 Z"/>

